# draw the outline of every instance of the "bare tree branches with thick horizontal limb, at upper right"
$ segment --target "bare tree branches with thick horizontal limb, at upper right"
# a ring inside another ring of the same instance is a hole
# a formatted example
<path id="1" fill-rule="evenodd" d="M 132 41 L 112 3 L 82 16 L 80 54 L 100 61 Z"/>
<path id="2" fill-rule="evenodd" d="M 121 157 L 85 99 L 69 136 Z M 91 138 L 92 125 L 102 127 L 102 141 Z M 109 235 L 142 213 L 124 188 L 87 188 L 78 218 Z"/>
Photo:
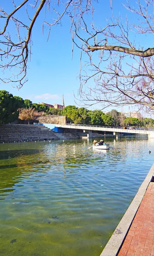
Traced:
<path id="1" fill-rule="evenodd" d="M 83 14 L 82 33 L 72 17 L 74 43 L 81 49 L 80 96 L 85 105 L 99 102 L 102 108 L 134 105 L 154 110 L 154 48 L 144 46 L 145 40 L 151 45 L 154 35 L 154 1 L 137 0 L 134 6 L 127 1 L 123 8 L 135 23 L 127 16 L 112 16 L 98 28 L 94 22 L 89 26 Z"/>

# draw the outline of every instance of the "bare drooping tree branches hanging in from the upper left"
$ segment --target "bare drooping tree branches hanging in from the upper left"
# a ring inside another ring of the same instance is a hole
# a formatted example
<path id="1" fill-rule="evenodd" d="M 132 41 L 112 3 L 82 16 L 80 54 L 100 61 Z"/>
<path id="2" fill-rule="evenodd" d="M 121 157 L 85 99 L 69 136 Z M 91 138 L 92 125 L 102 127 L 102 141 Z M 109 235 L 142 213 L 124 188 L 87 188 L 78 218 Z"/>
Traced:
<path id="1" fill-rule="evenodd" d="M 0 70 L 5 73 L 0 76 L 4 83 L 15 83 L 21 88 L 27 81 L 27 64 L 31 55 L 32 31 L 37 17 L 44 9 L 49 20 L 43 21 L 43 29 L 61 23 L 63 16 L 68 14 L 74 21 L 80 22 L 80 13 L 92 11 L 91 1 L 97 0 L 23 0 L 16 5 L 17 0 L 0 3 Z M 12 9 L 7 11 L 7 6 Z M 9 13 L 8 13 L 9 12 Z M 11 74 L 11 75 L 10 75 Z"/>

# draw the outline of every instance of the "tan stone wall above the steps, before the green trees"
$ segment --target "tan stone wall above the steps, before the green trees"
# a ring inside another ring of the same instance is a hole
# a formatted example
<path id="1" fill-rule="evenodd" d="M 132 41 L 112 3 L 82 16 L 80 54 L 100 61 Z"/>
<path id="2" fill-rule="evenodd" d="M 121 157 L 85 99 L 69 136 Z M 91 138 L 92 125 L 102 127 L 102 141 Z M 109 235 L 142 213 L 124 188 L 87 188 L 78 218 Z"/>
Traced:
<path id="1" fill-rule="evenodd" d="M 66 124 L 67 123 L 66 116 L 47 115 L 47 116 L 38 117 L 38 120 L 40 123 L 45 123 L 45 124 Z"/>

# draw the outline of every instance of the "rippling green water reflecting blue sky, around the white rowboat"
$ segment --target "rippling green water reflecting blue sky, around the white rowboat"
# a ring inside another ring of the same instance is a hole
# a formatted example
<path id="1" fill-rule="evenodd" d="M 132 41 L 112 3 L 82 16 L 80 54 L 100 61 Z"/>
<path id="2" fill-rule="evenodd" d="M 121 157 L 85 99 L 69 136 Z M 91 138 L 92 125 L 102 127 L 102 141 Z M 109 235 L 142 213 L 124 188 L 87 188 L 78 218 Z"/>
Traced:
<path id="1" fill-rule="evenodd" d="M 100 255 L 154 159 L 153 141 L 108 142 L 0 144 L 0 256 Z"/>

